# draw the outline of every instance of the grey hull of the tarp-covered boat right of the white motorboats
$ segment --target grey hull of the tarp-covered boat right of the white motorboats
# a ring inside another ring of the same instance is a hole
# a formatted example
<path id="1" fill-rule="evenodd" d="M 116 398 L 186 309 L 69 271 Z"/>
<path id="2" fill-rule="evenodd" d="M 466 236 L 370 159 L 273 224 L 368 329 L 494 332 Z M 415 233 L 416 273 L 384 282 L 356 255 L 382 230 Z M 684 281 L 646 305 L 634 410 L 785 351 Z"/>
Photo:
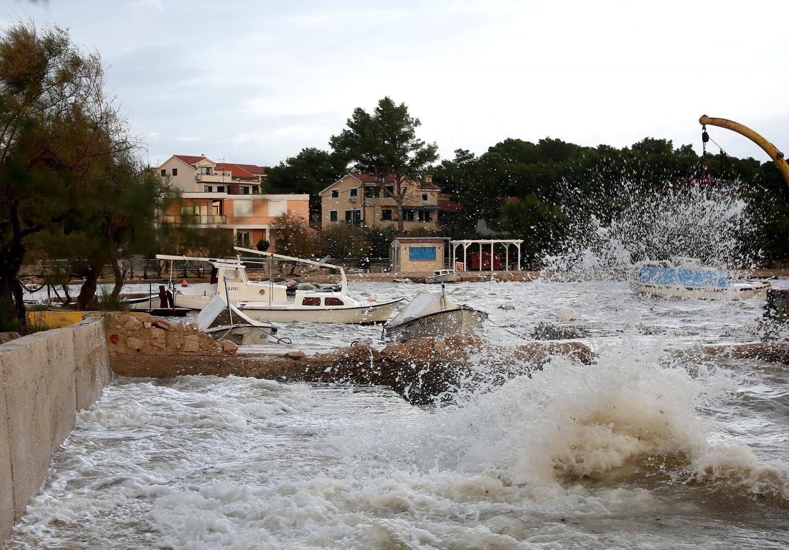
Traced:
<path id="1" fill-rule="evenodd" d="M 387 336 L 406 342 L 417 338 L 444 338 L 451 335 L 469 334 L 482 327 L 488 314 L 478 309 L 460 306 L 428 313 L 405 323 L 387 326 Z"/>

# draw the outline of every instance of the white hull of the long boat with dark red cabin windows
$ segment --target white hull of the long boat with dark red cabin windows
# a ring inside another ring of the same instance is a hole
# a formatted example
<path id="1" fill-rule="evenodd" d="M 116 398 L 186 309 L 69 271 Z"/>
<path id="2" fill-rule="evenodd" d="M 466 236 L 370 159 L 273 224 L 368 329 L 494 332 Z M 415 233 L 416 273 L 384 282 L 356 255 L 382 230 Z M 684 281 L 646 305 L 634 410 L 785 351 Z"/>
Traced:
<path id="1" fill-rule="evenodd" d="M 386 323 L 394 309 L 402 301 L 371 302 L 359 307 L 292 307 L 240 303 L 237 305 L 247 316 L 263 323 L 342 323 L 380 324 Z"/>

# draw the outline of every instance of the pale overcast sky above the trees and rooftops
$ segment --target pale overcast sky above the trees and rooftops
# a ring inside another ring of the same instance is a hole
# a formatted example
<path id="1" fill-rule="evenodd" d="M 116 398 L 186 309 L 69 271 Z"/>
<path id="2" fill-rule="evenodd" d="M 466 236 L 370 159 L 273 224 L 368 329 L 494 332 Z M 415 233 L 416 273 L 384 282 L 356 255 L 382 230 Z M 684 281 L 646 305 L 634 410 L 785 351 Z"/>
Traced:
<path id="1" fill-rule="evenodd" d="M 701 114 L 789 152 L 787 2 L 0 0 L 98 50 L 151 163 L 271 165 L 391 95 L 444 158 L 506 137 L 700 149 Z M 724 129 L 732 155 L 767 156 Z M 716 148 L 713 149 L 716 150 Z"/>

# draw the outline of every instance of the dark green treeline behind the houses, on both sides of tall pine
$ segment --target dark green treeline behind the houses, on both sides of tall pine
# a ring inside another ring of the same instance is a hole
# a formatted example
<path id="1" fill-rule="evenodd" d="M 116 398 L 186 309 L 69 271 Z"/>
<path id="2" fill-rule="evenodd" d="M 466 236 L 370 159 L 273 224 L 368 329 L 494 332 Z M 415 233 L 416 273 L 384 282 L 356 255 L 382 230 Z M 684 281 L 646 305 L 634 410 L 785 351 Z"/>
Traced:
<path id="1" fill-rule="evenodd" d="M 460 214 L 441 216 L 442 235 L 475 238 L 477 220 L 485 220 L 492 230 L 523 238 L 525 258 L 533 266 L 578 238 L 579 227 L 592 216 L 606 224 L 635 200 L 660 201 L 700 186 L 710 195 L 736 193 L 747 200 L 752 222 L 739 238 L 747 241 L 751 256 L 763 263 L 789 257 L 789 193 L 775 164 L 724 152 L 708 153 L 706 159 L 703 170 L 690 145 L 675 147 L 671 140 L 652 137 L 625 148 L 510 138 L 481 155 L 458 149 L 453 159 L 429 171 L 442 192 L 464 206 Z M 349 169 L 342 152 L 305 148 L 272 167 L 269 184 L 283 193 L 311 193 L 312 211 L 318 212 L 317 193 Z M 705 176 L 709 183 L 696 181 Z"/>

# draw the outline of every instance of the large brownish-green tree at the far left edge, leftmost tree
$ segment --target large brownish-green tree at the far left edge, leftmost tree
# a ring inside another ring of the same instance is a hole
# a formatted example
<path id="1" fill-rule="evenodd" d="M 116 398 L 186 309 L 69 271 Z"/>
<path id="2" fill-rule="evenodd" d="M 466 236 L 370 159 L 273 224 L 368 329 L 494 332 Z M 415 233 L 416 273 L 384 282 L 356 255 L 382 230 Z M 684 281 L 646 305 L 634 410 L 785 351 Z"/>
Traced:
<path id="1" fill-rule="evenodd" d="M 0 301 L 21 324 L 28 239 L 76 226 L 98 174 L 136 146 L 103 84 L 99 55 L 59 28 L 17 23 L 0 36 Z"/>

